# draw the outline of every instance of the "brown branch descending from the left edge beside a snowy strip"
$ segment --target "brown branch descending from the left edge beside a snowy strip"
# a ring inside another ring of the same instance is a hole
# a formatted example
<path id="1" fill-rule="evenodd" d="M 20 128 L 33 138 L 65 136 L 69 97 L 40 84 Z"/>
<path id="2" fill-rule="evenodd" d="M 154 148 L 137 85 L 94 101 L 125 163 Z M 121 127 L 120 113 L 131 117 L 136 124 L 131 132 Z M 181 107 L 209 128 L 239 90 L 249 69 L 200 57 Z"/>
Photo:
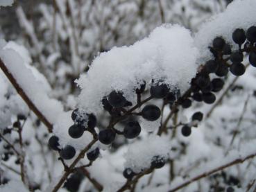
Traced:
<path id="1" fill-rule="evenodd" d="M 22 89 L 22 87 L 19 86 L 17 80 L 12 76 L 12 73 L 8 71 L 8 68 L 6 65 L 3 63 L 3 61 L 0 58 L 0 68 L 2 69 L 3 73 L 6 75 L 8 80 L 12 83 L 13 87 L 15 87 L 17 93 L 19 96 L 22 97 L 22 99 L 25 101 L 26 105 L 35 113 L 35 115 L 46 125 L 48 128 L 49 132 L 52 132 L 53 130 L 53 125 L 46 119 L 46 117 L 38 110 L 38 108 L 35 106 L 33 101 L 28 97 L 28 95 L 25 93 L 25 91 Z"/>

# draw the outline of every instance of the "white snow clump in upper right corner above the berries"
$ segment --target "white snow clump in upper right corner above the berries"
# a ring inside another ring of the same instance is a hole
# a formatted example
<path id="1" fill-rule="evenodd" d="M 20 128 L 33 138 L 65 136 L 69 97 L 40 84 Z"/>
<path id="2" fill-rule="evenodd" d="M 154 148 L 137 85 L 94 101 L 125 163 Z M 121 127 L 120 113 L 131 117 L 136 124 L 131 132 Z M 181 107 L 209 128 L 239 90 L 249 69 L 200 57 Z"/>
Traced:
<path id="1" fill-rule="evenodd" d="M 196 47 L 200 51 L 199 62 L 204 62 L 211 57 L 208 46 L 212 46 L 215 37 L 223 37 L 233 49 L 238 49 L 238 45 L 232 41 L 232 33 L 236 28 L 246 30 L 256 24 L 256 1 L 237 0 L 228 5 L 224 12 L 214 15 L 202 24 L 194 36 Z"/>

